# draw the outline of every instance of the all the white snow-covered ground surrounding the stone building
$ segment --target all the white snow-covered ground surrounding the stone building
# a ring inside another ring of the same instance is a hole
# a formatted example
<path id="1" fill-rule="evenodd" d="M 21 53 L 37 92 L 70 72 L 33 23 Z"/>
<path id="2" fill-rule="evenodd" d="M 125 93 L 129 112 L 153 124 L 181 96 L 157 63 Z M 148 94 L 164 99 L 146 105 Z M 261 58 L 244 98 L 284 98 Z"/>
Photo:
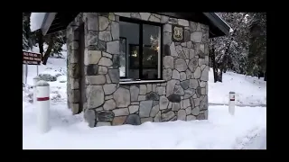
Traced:
<path id="1" fill-rule="evenodd" d="M 65 51 L 62 54 L 66 57 Z M 236 107 L 232 117 L 227 106 L 210 106 L 208 121 L 90 129 L 82 113 L 71 115 L 66 106 L 66 58 L 49 58 L 39 72 L 58 76 L 49 82 L 51 130 L 46 134 L 37 131 L 35 106 L 29 103 L 32 89 L 23 88 L 23 148 L 266 148 L 266 107 Z M 36 66 L 29 66 L 28 85 L 33 85 L 34 76 Z M 212 70 L 209 78 L 210 103 L 228 103 L 229 91 L 237 93 L 238 103 L 266 103 L 262 78 L 227 72 L 223 83 L 213 83 Z"/>

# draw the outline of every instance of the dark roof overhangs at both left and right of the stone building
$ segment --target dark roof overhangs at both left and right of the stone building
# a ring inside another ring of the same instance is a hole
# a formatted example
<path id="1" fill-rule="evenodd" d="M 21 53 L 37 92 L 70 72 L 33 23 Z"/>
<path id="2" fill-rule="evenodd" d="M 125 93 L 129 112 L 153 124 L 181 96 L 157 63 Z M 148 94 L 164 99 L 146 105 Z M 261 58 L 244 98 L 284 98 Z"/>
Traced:
<path id="1" fill-rule="evenodd" d="M 55 31 L 62 31 L 74 20 L 79 13 L 46 13 L 42 22 L 42 34 L 50 34 Z M 223 21 L 215 13 L 157 13 L 185 19 L 196 23 L 209 25 L 210 38 L 225 36 L 232 30 L 228 23 Z"/>

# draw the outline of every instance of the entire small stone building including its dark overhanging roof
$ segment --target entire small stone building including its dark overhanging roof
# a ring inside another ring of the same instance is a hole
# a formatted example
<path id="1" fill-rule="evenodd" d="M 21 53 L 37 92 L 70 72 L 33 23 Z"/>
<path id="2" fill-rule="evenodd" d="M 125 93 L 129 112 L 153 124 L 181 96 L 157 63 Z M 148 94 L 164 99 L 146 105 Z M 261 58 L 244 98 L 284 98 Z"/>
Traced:
<path id="1" fill-rule="evenodd" d="M 68 107 L 89 127 L 208 119 L 214 13 L 49 13 L 42 33 L 67 33 Z"/>

